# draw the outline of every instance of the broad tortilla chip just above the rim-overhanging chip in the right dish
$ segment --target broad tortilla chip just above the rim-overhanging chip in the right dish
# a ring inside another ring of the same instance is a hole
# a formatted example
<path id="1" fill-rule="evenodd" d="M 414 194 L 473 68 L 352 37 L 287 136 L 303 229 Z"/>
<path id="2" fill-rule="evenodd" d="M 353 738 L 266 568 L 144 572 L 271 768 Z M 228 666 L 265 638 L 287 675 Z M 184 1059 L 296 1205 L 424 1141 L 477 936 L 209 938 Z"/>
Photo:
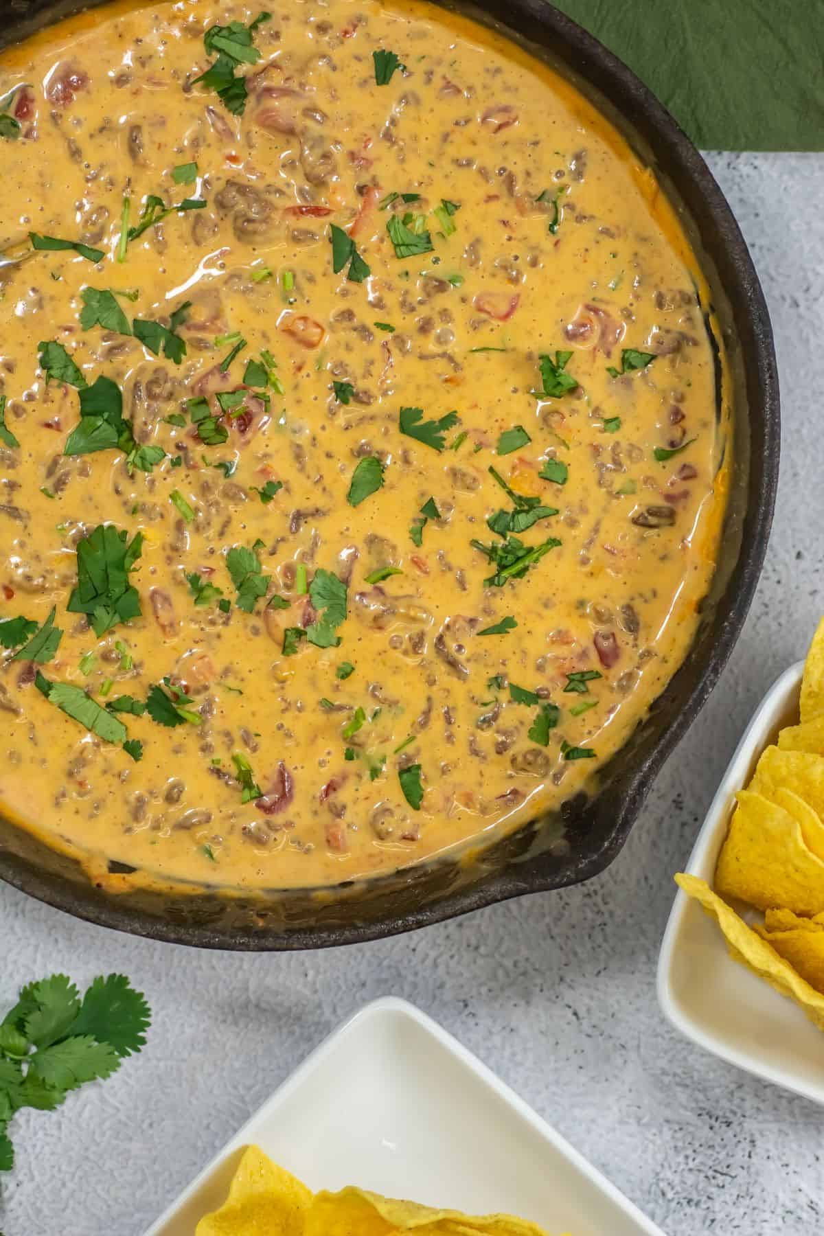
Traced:
<path id="1" fill-rule="evenodd" d="M 798 821 L 750 790 L 738 800 L 715 868 L 720 895 L 759 910 L 824 911 L 824 863 L 804 843 Z"/>

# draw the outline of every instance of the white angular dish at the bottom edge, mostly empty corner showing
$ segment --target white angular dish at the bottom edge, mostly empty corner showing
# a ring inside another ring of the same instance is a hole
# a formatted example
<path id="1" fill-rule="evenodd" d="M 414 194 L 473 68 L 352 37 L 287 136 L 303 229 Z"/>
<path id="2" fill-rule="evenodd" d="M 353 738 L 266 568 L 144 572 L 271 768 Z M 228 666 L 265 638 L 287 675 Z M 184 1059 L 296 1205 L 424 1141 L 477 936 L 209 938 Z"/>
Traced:
<path id="1" fill-rule="evenodd" d="M 359 1184 L 552 1236 L 663 1236 L 446 1031 L 367 1005 L 277 1090 L 146 1236 L 193 1236 L 253 1142 L 314 1190 Z"/>

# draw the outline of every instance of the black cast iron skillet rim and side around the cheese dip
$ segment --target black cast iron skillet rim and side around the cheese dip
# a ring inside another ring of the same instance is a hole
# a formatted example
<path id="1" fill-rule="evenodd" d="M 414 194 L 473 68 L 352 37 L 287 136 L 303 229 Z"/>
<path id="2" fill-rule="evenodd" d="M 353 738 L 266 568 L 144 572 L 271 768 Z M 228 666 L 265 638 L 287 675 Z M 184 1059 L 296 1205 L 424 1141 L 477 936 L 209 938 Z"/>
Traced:
<path id="1" fill-rule="evenodd" d="M 440 860 L 368 884 L 219 897 L 105 894 L 74 861 L 0 818 L 0 876 L 79 918 L 132 934 L 206 948 L 298 949 L 411 931 L 524 892 L 560 889 L 603 871 L 629 836 L 658 769 L 693 723 L 741 629 L 761 570 L 778 478 L 778 381 L 772 330 L 738 224 L 700 154 L 667 111 L 610 52 L 544 0 L 441 0 L 503 28 L 568 77 L 628 137 L 679 210 L 712 288 L 724 336 L 734 412 L 734 470 L 719 566 L 686 661 L 650 717 L 604 769 L 600 792 L 567 802 L 488 845 L 471 861 Z M 0 44 L 82 7 L 16 0 Z M 710 307 L 704 307 L 708 310 Z M 719 381 L 720 381 L 719 373 Z M 130 868 L 111 864 L 127 876 Z"/>

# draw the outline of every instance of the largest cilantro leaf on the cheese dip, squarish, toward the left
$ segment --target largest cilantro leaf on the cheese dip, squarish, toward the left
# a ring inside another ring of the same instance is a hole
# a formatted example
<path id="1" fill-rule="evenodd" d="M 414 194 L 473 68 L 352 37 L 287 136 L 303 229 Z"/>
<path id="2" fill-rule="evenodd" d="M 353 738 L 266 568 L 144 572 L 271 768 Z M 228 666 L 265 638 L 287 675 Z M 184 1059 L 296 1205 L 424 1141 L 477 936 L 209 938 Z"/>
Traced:
<path id="1" fill-rule="evenodd" d="M 128 541 L 128 534 L 117 531 L 112 524 L 98 524 L 89 536 L 78 541 L 78 583 L 67 609 L 86 614 L 98 638 L 119 622 L 141 616 L 140 597 L 128 582 L 128 572 L 141 556 L 142 546 L 142 533 Z"/>

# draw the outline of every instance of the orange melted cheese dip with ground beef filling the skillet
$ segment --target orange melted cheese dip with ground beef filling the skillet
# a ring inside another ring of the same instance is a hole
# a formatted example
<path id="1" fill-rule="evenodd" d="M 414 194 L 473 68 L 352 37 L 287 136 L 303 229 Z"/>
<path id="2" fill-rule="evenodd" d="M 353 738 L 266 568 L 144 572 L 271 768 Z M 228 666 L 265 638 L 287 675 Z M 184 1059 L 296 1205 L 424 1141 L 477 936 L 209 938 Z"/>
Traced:
<path id="1" fill-rule="evenodd" d="M 25 84 L 7 106 L 20 138 L 1 142 L 5 245 L 36 231 L 104 251 L 0 272 L 20 442 L 0 445 L 0 618 L 42 623 L 56 607 L 62 641 L 37 669 L 99 705 L 145 702 L 164 679 L 190 700 L 174 728 L 117 713 L 142 743 L 136 763 L 9 651 L 0 798 L 90 864 L 227 887 L 403 866 L 586 787 L 691 644 L 724 508 L 700 277 L 656 183 L 591 105 L 434 7 L 294 0 L 256 28 L 232 115 L 194 84 L 214 61 L 203 36 L 256 14 L 95 10 L 0 61 L 4 94 Z M 378 49 L 404 66 L 388 84 Z M 196 180 L 177 183 L 188 163 Z M 121 262 L 122 201 L 133 226 L 149 194 L 206 205 L 148 227 Z M 395 255 L 387 225 L 405 216 L 426 252 Z M 362 282 L 334 273 L 332 224 L 368 265 Z M 167 328 L 190 302 L 180 362 L 83 329 L 84 288 Z M 151 471 L 116 449 L 63 454 L 79 399 L 38 368 L 48 340 L 86 383 L 122 391 L 137 444 L 166 452 Z M 625 349 L 655 360 L 610 376 Z M 577 386 L 536 396 L 539 357 L 557 350 Z M 277 362 L 266 399 L 245 386 L 262 351 Z M 216 396 L 232 392 L 224 410 Z M 195 397 L 225 442 L 199 436 Z M 404 434 L 401 408 L 456 412 L 444 449 Z M 352 506 L 367 457 L 383 483 Z M 560 541 L 499 586 L 473 546 L 502 546 L 487 520 L 514 509 L 490 467 L 521 507 L 557 508 L 516 534 L 525 549 Z M 280 486 L 269 502 L 267 482 Z M 439 518 L 423 524 L 430 498 Z M 78 543 L 103 523 L 145 538 L 141 613 L 96 638 L 65 607 Z M 232 546 L 258 555 L 267 595 L 252 612 L 236 603 Z M 383 567 L 398 574 L 369 582 Z M 284 630 L 319 620 L 316 571 L 346 586 L 340 645 L 293 635 L 284 655 Z M 196 604 L 194 574 L 222 596 Z M 483 634 L 505 618 L 516 627 Z M 594 676 L 568 677 L 582 671 Z"/>

